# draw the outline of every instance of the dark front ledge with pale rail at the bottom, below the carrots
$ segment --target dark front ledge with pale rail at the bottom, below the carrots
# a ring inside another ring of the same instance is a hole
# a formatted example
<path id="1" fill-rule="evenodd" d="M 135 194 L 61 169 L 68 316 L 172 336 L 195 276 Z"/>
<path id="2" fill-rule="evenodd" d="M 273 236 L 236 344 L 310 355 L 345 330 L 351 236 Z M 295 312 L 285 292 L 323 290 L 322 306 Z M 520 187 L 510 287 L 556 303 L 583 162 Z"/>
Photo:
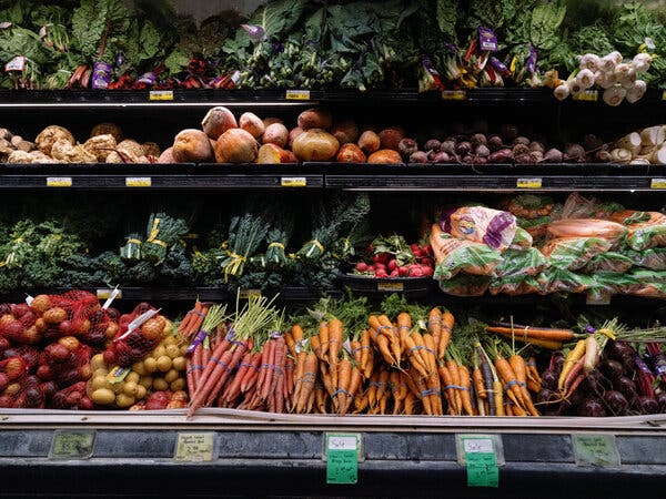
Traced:
<path id="1" fill-rule="evenodd" d="M 266 483 L 272 496 L 290 497 L 414 497 L 418 483 L 418 497 L 442 497 L 444 490 L 456 497 L 528 497 L 538 488 L 539 497 L 585 490 L 586 497 L 601 498 L 666 486 L 664 421 L 647 416 L 516 421 L 204 409 L 186 421 L 183 410 L 57 413 L 0 413 L 3 497 L 39 497 L 44 490 L 49 497 L 91 490 L 153 497 L 158 482 L 171 493 L 196 489 L 198 497 L 264 497 Z M 77 431 L 93 434 L 85 449 L 90 455 L 54 456 L 53 444 L 62 439 L 57 432 Z M 179 441 L 196 432 L 210 435 L 204 446 L 210 459 L 179 460 Z M 356 483 L 326 483 L 330 434 L 352 434 L 361 441 Z M 463 436 L 495 442 L 498 488 L 467 487 Z M 598 461 L 585 459 L 582 445 L 599 441 L 607 442 L 608 452 L 599 454 Z M 604 462 L 610 455 L 615 462 Z"/>

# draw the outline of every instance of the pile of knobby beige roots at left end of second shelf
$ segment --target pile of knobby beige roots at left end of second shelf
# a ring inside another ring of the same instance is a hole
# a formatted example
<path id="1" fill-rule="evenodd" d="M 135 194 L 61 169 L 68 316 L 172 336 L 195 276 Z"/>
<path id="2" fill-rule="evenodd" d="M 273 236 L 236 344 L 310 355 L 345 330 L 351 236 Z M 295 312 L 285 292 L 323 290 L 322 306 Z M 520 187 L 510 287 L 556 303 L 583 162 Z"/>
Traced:
<path id="1" fill-rule="evenodd" d="M 161 153 L 153 142 L 123 139 L 122 130 L 113 123 L 95 125 L 82 144 L 58 125 L 42 130 L 34 143 L 17 138 L 0 130 L 0 157 L 7 163 L 154 163 Z M 14 143 L 16 150 L 11 150 Z"/>

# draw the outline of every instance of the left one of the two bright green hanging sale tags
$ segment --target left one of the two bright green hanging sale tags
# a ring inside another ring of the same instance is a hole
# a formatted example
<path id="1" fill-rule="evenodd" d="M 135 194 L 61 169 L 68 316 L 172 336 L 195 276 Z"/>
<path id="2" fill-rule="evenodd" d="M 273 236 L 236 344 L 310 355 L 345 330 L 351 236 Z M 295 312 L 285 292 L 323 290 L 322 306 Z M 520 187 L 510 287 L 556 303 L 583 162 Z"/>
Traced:
<path id="1" fill-rule="evenodd" d="M 352 485 L 359 481 L 360 434 L 325 434 L 326 483 Z"/>

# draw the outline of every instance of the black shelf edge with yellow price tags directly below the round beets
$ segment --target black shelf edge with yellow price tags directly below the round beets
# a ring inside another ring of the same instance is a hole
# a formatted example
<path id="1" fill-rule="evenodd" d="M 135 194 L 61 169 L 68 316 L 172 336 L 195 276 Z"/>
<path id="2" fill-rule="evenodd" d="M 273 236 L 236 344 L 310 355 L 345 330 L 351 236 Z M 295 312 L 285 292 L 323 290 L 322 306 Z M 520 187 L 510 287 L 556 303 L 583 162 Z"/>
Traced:
<path id="1" fill-rule="evenodd" d="M 0 166 L 1 189 L 663 191 L 664 165 L 68 164 Z"/>

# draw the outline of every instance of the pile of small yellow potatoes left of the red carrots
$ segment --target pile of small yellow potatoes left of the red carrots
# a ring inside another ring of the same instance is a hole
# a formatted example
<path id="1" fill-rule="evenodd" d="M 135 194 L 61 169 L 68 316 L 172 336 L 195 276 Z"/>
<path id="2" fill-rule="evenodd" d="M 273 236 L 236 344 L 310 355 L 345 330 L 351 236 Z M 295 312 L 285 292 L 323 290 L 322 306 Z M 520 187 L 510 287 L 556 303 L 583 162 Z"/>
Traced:
<path id="1" fill-rule="evenodd" d="M 186 346 L 180 346 L 175 336 L 165 333 L 158 346 L 131 367 L 109 366 L 103 355 L 98 354 L 90 361 L 92 378 L 88 394 L 97 406 L 128 409 L 151 391 L 183 391 L 186 385 L 185 350 Z M 185 395 L 185 404 L 186 400 Z"/>

